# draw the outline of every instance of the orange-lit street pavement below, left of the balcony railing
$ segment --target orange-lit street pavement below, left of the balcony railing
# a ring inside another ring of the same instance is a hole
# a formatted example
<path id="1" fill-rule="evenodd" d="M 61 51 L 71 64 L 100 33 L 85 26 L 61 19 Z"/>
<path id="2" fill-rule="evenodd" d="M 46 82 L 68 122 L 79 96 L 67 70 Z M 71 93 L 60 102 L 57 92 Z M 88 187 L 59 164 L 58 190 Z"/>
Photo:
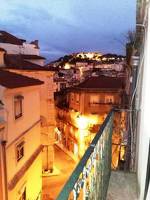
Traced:
<path id="1" fill-rule="evenodd" d="M 54 145 L 54 151 L 54 166 L 59 173 L 43 177 L 42 200 L 56 199 L 77 164 L 57 145 Z"/>

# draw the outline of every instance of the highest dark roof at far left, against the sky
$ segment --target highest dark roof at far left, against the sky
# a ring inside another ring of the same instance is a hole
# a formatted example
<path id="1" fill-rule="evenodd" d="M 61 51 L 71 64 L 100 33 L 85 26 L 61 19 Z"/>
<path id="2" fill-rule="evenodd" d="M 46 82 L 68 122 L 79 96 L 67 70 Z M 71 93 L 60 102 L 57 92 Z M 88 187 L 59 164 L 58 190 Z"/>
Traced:
<path id="1" fill-rule="evenodd" d="M 25 41 L 26 40 L 17 38 L 6 31 L 0 31 L 0 43 L 22 45 Z"/>

